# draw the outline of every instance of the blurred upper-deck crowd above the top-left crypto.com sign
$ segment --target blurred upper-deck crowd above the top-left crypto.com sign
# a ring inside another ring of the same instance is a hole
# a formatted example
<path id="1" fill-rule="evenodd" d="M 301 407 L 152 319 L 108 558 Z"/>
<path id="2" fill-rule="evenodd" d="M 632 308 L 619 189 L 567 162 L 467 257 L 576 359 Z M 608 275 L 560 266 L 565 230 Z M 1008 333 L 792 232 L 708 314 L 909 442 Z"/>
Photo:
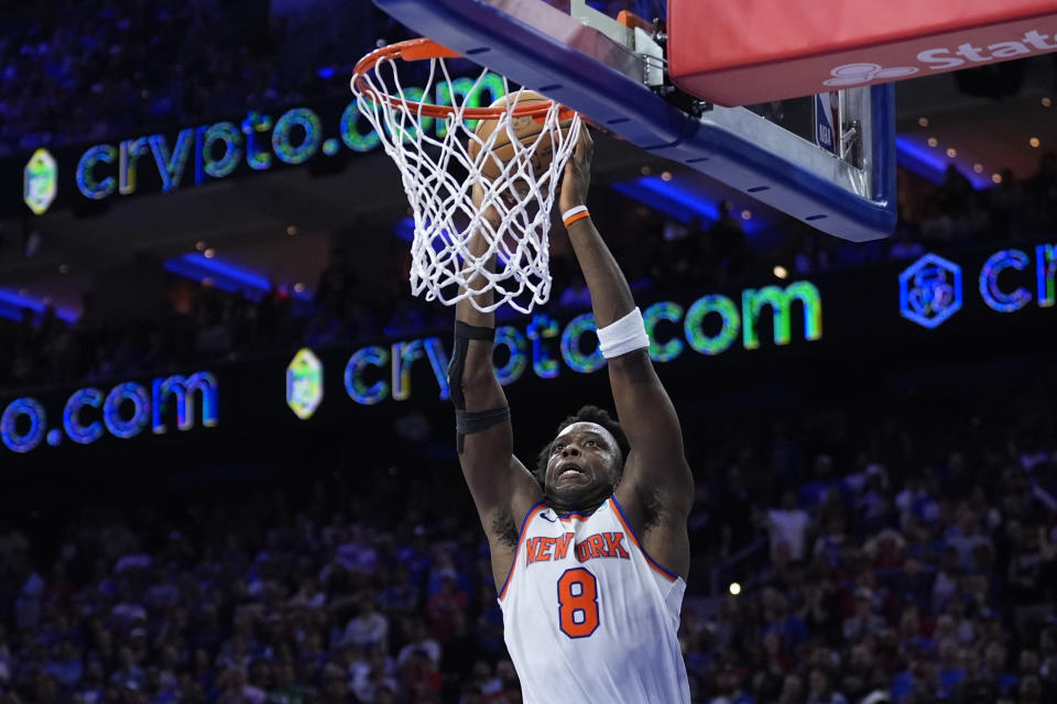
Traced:
<path id="1" fill-rule="evenodd" d="M 296 8 L 250 0 L 3 3 L 0 157 L 348 95 L 349 72 L 326 67 L 401 31 L 329 4 L 328 31 L 308 35 Z"/>

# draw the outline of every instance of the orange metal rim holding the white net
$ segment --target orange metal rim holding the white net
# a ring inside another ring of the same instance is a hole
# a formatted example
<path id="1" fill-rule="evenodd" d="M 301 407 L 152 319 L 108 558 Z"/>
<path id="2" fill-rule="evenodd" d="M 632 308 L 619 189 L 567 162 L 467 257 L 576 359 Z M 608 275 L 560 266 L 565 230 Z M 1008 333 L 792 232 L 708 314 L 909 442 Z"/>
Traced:
<path id="1" fill-rule="evenodd" d="M 461 54 L 453 52 L 451 50 L 442 46 L 433 40 L 424 36 L 415 40 L 405 40 L 403 42 L 397 42 L 396 44 L 390 44 L 389 46 L 377 48 L 357 62 L 352 69 L 352 81 L 356 85 L 356 89 L 360 94 L 377 97 L 379 100 L 388 102 L 393 108 L 415 114 L 422 114 L 427 118 L 447 118 L 455 114 L 456 108 L 454 106 L 438 106 L 429 102 L 406 100 L 385 92 L 380 92 L 367 82 L 364 75 L 383 61 L 402 58 L 405 62 L 421 62 L 432 58 L 461 58 Z M 516 108 L 514 108 L 513 116 L 516 118 L 528 116 L 535 118 L 540 122 L 543 122 L 543 119 L 546 117 L 547 112 L 551 111 L 551 106 L 553 105 L 553 100 L 547 100 L 546 102 L 534 102 L 525 106 L 519 105 Z M 508 112 L 505 108 L 465 108 L 462 110 L 462 117 L 467 120 L 498 120 L 504 112 Z M 567 118 L 571 118 L 574 114 L 576 114 L 574 110 L 562 107 L 562 110 L 558 113 L 558 119 L 565 120 Z"/>

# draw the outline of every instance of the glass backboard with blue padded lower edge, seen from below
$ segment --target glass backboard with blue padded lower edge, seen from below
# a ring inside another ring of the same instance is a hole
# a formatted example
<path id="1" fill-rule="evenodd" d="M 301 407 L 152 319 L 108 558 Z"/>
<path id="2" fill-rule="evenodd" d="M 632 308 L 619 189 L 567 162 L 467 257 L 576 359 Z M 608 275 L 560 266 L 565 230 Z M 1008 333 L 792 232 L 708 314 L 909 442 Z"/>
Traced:
<path id="1" fill-rule="evenodd" d="M 665 0 L 373 1 L 638 147 L 818 230 L 865 241 L 895 226 L 891 85 L 724 108 L 667 80 Z M 622 11 L 642 22 L 619 22 Z"/>

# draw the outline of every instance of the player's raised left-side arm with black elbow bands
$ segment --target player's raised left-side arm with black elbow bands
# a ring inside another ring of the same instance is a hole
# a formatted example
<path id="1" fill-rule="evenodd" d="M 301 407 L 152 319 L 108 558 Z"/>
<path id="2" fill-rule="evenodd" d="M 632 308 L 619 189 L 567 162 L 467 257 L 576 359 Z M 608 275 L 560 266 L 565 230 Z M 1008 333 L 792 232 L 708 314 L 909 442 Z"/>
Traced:
<path id="1" fill-rule="evenodd" d="M 478 206 L 483 197 L 475 186 Z M 489 227 L 497 228 L 494 209 L 487 209 Z M 488 243 L 480 232 L 469 248 L 481 255 Z M 488 267 L 494 266 L 494 260 Z M 470 290 L 481 287 L 482 276 L 468 279 Z M 478 294 L 483 308 L 492 301 L 491 292 Z M 473 496 L 481 525 L 492 552 L 492 572 L 497 586 L 502 584 L 513 562 L 517 543 L 517 525 L 543 493 L 535 479 L 513 455 L 513 433 L 506 395 L 492 367 L 495 316 L 481 312 L 469 299 L 455 309 L 455 349 L 448 367 L 451 400 L 456 407 L 457 443 L 462 474 Z"/>

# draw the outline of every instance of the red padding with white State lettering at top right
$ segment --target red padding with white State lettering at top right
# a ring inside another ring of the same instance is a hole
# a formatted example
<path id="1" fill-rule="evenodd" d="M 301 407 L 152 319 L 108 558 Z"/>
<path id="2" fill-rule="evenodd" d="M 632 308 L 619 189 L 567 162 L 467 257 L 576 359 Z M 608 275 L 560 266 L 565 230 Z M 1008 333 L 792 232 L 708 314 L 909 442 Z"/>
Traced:
<path id="1" fill-rule="evenodd" d="M 742 106 L 1057 51 L 1057 1 L 668 0 L 667 30 L 675 85 Z"/>

